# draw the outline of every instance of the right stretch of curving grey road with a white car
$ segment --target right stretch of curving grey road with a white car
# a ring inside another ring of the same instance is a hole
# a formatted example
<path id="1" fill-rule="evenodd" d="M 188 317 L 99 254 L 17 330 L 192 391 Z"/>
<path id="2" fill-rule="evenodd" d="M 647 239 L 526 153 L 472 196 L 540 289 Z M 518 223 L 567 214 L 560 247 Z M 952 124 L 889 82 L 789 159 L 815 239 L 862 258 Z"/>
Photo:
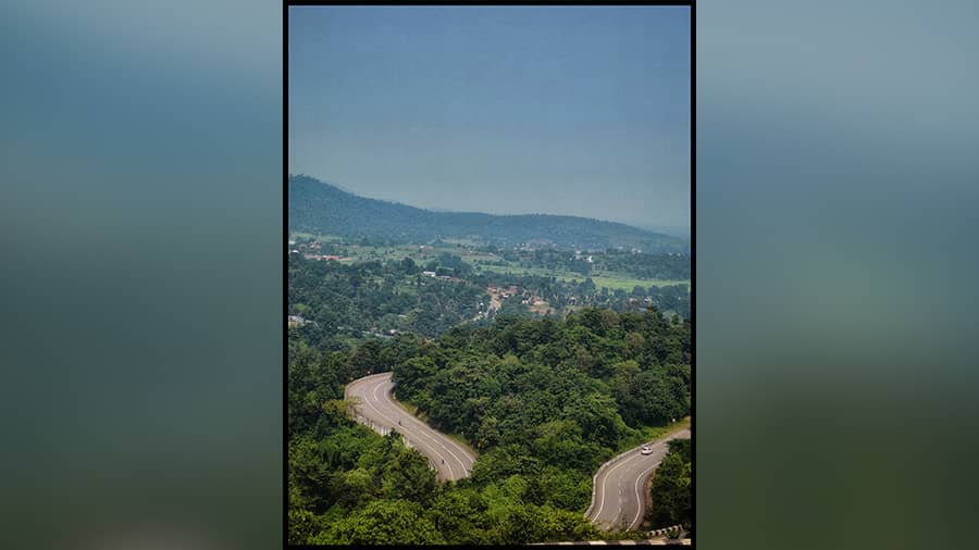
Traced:
<path id="1" fill-rule="evenodd" d="M 642 454 L 642 447 L 636 447 L 605 463 L 595 478 L 592 505 L 585 516 L 605 529 L 642 526 L 648 500 L 646 482 L 669 451 L 667 441 L 676 438 L 690 438 L 690 428 L 649 443 L 652 454 Z"/>

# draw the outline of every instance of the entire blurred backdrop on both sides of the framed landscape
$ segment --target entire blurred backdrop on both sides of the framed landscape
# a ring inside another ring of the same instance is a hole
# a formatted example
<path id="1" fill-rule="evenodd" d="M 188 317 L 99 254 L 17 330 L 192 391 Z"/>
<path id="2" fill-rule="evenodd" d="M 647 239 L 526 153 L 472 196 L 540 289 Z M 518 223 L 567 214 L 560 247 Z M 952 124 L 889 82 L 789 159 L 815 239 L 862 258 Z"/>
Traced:
<path id="1" fill-rule="evenodd" d="M 977 16 L 697 7 L 697 545 L 975 543 Z M 0 21 L 3 546 L 278 546 L 282 7 Z"/>

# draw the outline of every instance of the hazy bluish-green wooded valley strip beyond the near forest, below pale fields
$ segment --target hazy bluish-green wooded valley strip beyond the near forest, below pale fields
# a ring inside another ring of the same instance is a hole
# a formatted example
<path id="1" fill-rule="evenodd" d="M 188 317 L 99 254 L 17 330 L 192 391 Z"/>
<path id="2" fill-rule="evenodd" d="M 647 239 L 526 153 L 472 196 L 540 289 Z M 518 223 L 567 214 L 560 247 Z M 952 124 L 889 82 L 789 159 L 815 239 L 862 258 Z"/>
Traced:
<path id="1" fill-rule="evenodd" d="M 459 280 L 426 277 L 423 270 Z M 423 265 L 369 261 L 352 265 L 306 260 L 289 254 L 289 314 L 308 323 L 295 328 L 311 345 L 339 350 L 364 336 L 387 338 L 398 333 L 436 336 L 459 323 L 486 324 L 491 285 L 517 286 L 546 300 L 555 317 L 579 307 L 640 312 L 648 305 L 690 316 L 686 285 L 636 287 L 632 291 L 596 288 L 586 278 L 562 282 L 542 275 L 483 272 L 475 274 L 458 255 L 441 254 Z M 497 314 L 540 316 L 520 297 L 503 303 Z"/>

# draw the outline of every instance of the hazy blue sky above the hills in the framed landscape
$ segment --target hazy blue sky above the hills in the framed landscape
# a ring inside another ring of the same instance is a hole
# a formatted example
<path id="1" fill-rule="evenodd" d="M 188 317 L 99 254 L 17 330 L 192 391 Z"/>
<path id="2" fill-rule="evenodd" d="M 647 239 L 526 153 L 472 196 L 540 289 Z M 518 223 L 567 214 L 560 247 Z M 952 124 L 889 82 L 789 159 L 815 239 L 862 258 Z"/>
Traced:
<path id="1" fill-rule="evenodd" d="M 423 208 L 690 224 L 690 11 L 289 8 L 289 172 Z"/>

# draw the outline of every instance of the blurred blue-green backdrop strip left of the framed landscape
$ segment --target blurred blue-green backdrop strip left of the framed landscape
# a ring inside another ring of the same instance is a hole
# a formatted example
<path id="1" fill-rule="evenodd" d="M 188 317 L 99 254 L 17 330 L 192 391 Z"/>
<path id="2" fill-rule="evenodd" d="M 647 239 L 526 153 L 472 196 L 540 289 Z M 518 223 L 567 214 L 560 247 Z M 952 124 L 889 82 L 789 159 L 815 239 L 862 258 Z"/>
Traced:
<path id="1" fill-rule="evenodd" d="M 0 546 L 281 546 L 281 4 L 0 21 Z"/>

